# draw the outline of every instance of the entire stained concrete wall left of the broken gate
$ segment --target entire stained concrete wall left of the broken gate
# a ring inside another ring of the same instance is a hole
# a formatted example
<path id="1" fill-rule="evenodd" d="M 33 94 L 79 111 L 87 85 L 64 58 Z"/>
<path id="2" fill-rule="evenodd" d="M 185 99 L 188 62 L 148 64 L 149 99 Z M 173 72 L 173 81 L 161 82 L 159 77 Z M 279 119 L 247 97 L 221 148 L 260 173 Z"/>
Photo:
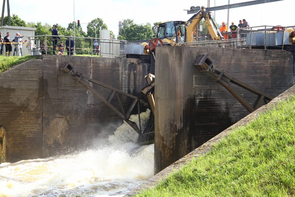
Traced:
<path id="1" fill-rule="evenodd" d="M 86 87 L 59 70 L 66 61 L 93 79 L 144 98 L 140 90 L 145 86 L 147 65 L 140 60 L 42 57 L 0 74 L 0 125 L 6 132 L 8 162 L 84 150 L 123 122 Z M 110 94 L 110 90 L 94 88 L 105 97 Z M 121 99 L 126 111 L 131 100 Z M 119 106 L 116 98 L 112 102 Z"/>

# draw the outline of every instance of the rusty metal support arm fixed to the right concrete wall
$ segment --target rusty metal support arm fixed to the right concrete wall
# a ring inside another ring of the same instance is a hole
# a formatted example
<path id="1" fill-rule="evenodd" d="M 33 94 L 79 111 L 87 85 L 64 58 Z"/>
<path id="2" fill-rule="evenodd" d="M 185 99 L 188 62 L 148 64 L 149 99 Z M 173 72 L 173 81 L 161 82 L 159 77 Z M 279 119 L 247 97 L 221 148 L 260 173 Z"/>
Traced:
<path id="1" fill-rule="evenodd" d="M 197 56 L 196 60 L 194 61 L 194 66 L 199 68 L 200 72 L 209 73 L 217 83 L 225 87 L 250 113 L 258 109 L 262 101 L 264 101 L 264 104 L 267 104 L 273 99 L 272 96 L 262 92 L 261 90 L 258 90 L 242 81 L 239 81 L 238 79 L 233 78 L 233 76 L 228 74 L 224 69 L 221 70 L 214 68 L 213 63 L 214 60 L 212 60 L 208 54 L 201 54 Z M 243 89 L 257 95 L 257 99 L 253 107 L 236 90 L 233 89 L 230 83 L 238 85 Z"/>

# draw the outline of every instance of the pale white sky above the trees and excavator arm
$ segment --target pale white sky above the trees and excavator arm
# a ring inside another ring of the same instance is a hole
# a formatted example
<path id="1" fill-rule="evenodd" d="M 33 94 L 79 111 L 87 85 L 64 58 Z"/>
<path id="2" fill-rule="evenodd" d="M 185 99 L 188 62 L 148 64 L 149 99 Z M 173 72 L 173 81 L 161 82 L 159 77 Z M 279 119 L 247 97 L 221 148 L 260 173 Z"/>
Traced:
<path id="1" fill-rule="evenodd" d="M 230 0 L 232 3 L 247 2 L 250 0 Z M 0 1 L 2 5 L 2 1 Z M 210 7 L 228 4 L 228 0 L 210 0 Z M 240 19 L 246 19 L 250 26 L 259 25 L 295 25 L 293 19 L 294 0 L 283 0 L 260 5 L 233 8 L 229 10 L 229 23 L 237 25 Z M 38 22 L 50 25 L 60 24 L 67 27 L 74 20 L 80 23 L 89 23 L 92 19 L 101 18 L 118 35 L 119 20 L 134 19 L 137 24 L 147 22 L 153 24 L 158 21 L 183 20 L 187 21 L 192 14 L 187 14 L 184 9 L 190 6 L 205 6 L 207 0 L 184 1 L 156 1 L 156 0 L 10 0 L 10 14 L 17 14 L 26 22 Z M 1 9 L 1 8 L 0 8 Z M 213 12 L 214 13 L 214 12 Z M 7 9 L 5 7 L 5 14 Z M 227 22 L 227 10 L 216 11 L 216 22 Z M 81 24 L 86 32 L 87 24 Z"/>

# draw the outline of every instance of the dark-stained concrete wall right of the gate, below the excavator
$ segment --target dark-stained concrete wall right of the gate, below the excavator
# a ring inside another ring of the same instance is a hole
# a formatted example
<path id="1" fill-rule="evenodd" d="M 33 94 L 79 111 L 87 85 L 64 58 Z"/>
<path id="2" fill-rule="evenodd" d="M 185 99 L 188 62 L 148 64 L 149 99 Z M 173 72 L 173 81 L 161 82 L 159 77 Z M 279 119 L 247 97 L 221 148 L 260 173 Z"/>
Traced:
<path id="1" fill-rule="evenodd" d="M 211 76 L 194 68 L 199 54 L 208 53 L 216 68 L 271 96 L 294 85 L 291 52 L 186 46 L 156 50 L 155 172 L 249 114 Z M 254 104 L 256 95 L 234 88 Z"/>

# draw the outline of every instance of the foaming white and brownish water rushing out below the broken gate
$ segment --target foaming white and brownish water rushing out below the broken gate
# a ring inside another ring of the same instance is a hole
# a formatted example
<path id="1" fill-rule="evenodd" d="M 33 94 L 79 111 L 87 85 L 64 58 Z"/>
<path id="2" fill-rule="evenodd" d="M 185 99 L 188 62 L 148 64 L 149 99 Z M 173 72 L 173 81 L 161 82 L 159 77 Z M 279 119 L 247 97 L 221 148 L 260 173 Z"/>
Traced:
<path id="1" fill-rule="evenodd" d="M 150 111 L 141 113 L 145 124 Z M 130 118 L 138 124 L 134 115 Z M 153 176 L 153 145 L 125 122 L 108 144 L 77 154 L 0 164 L 0 196 L 122 196 Z"/>

